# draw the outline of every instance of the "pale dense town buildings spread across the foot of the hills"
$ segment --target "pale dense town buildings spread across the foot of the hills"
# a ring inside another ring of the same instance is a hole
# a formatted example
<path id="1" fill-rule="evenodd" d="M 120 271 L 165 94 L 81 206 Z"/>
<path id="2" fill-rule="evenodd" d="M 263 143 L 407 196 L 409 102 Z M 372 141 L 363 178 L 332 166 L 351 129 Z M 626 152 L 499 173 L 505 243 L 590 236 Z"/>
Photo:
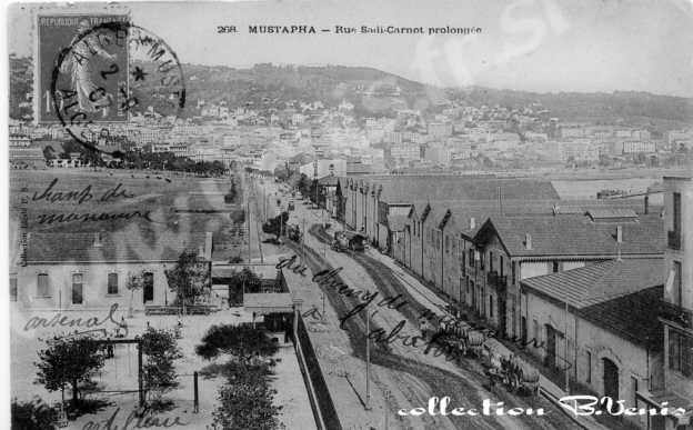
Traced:
<path id="1" fill-rule="evenodd" d="M 396 106 L 396 97 L 388 96 Z M 165 152 L 225 164 L 235 160 L 269 171 L 297 157 L 340 159 L 348 171 L 361 173 L 683 168 L 691 166 L 693 152 L 690 128 L 578 122 L 553 117 L 538 103 L 468 106 L 451 99 L 433 111 L 402 108 L 386 117 L 358 114 L 346 100 L 337 106 L 319 100 L 282 104 L 255 108 L 198 99 L 199 114 L 185 119 L 150 106 L 127 124 L 107 126 L 98 143 L 108 152 Z M 59 124 L 34 127 L 12 120 L 11 166 L 76 166 L 77 153 L 47 153 L 68 137 Z"/>

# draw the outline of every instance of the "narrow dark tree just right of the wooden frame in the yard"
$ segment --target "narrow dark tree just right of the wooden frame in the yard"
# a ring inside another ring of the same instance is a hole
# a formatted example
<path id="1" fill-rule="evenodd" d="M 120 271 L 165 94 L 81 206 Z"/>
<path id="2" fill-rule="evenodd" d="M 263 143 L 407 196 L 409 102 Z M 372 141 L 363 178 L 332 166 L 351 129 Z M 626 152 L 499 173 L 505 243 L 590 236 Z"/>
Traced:
<path id="1" fill-rule="evenodd" d="M 173 361 L 183 356 L 173 333 L 151 327 L 140 338 L 140 348 L 145 357 L 142 379 L 148 397 L 152 396 L 150 407 L 160 409 L 162 396 L 179 386 Z"/>

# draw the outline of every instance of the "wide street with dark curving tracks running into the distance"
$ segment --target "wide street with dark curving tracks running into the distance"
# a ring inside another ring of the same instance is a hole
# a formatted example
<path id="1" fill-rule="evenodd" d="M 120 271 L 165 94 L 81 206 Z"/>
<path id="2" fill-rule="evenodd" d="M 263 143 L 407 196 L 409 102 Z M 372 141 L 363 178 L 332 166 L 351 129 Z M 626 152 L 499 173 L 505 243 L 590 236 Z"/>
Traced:
<path id="1" fill-rule="evenodd" d="M 274 183 L 267 181 L 264 192 L 273 194 L 275 192 Z M 258 196 L 262 196 L 262 190 L 259 191 Z M 285 204 L 287 198 L 281 197 L 281 200 Z M 279 213 L 275 201 L 277 199 L 268 201 L 269 212 L 277 211 Z M 355 291 L 353 294 L 340 293 L 341 290 L 338 291 L 329 288 L 329 284 L 322 284 L 321 289 L 327 297 L 327 306 L 331 308 L 329 312 L 325 311 L 328 316 L 334 312 L 339 319 L 350 314 L 350 311 L 363 303 L 363 294 L 359 291 L 370 292 L 370 294 L 378 293 L 366 307 L 371 314 L 369 331 L 366 331 L 366 317 L 363 311 L 343 321 L 341 334 L 346 334 L 351 354 L 354 358 L 350 362 L 355 362 L 355 367 L 361 367 L 362 371 L 365 371 L 366 333 L 371 333 L 371 338 L 373 338 L 378 332 L 391 333 L 393 329 L 398 328 L 399 332 L 395 339 L 412 339 L 420 336 L 418 317 L 424 309 L 435 309 L 433 302 L 424 299 L 425 292 L 414 297 L 390 268 L 369 256 L 370 252 L 376 251 L 369 250 L 364 253 L 332 251 L 329 247 L 330 231 L 332 230 L 325 232 L 320 226 L 321 221 L 327 220 L 328 217 L 321 214 L 321 210 L 309 209 L 310 207 L 302 204 L 302 201 L 299 200 L 297 200 L 295 208 L 291 212 L 289 222 L 299 226 L 305 223 L 308 228 L 308 232 L 303 236 L 303 246 L 305 247 L 305 263 L 311 272 L 342 268 L 338 277 Z M 328 222 L 334 222 L 334 220 Z M 287 240 L 287 247 L 297 254 L 302 254 L 301 244 Z M 420 291 L 423 289 L 421 287 Z M 319 291 L 314 293 L 315 296 L 321 294 Z M 400 306 L 395 303 L 378 306 L 381 300 L 395 297 L 398 297 L 396 303 Z M 340 321 L 330 321 L 330 327 L 339 328 Z M 458 364 L 443 354 L 432 353 L 426 351 L 426 348 L 415 348 L 411 342 L 409 342 L 410 344 L 406 343 L 399 340 L 391 342 L 371 341 L 370 346 L 370 359 L 373 364 L 370 374 L 373 404 L 390 411 L 389 426 L 392 428 L 579 428 L 574 421 L 543 397 L 534 399 L 519 397 L 509 393 L 502 387 L 490 388 L 488 377 L 484 376 L 483 368 L 476 360 L 462 358 Z M 429 414 L 399 417 L 396 414 L 400 409 L 426 407 L 431 397 L 442 398 L 445 396 L 451 398 L 453 407 L 481 408 L 483 400 L 489 399 L 492 403 L 504 402 L 506 408 L 543 408 L 546 414 L 540 418 L 533 416 L 432 417 Z M 354 410 L 353 414 L 369 417 L 363 410 Z M 376 428 L 380 426 L 375 424 Z"/>

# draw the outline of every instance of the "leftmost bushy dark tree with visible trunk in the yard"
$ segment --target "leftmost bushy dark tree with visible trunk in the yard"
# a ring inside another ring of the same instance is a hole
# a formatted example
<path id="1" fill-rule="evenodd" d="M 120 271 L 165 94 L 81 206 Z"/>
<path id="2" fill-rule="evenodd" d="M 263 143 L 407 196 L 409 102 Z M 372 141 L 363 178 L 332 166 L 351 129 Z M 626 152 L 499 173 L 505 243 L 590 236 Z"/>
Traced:
<path id="1" fill-rule="evenodd" d="M 52 338 L 46 340 L 47 348 L 40 350 L 36 367 L 37 382 L 48 391 L 72 388 L 72 408 L 79 408 L 80 382 L 90 382 L 93 373 L 103 367 L 103 354 L 99 341 L 89 336 Z"/>

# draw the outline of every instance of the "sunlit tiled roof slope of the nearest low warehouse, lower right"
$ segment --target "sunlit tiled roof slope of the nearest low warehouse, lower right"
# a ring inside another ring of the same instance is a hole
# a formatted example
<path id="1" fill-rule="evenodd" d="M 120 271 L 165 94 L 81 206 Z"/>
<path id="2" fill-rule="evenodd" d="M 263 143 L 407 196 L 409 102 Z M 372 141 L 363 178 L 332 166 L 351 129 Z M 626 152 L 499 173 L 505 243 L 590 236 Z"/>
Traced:
<path id="1" fill-rule="evenodd" d="M 609 260 L 522 280 L 523 289 L 583 309 L 664 283 L 662 259 Z"/>

